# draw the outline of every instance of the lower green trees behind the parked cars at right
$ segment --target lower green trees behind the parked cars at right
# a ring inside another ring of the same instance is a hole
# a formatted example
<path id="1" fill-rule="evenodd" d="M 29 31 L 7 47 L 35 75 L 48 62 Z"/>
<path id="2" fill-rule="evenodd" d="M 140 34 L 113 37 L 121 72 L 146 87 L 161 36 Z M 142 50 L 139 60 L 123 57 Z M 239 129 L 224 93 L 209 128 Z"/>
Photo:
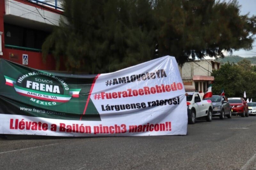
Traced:
<path id="1" fill-rule="evenodd" d="M 227 97 L 243 97 L 245 91 L 247 97 L 256 98 L 256 73 L 249 61 L 242 60 L 237 65 L 226 63 L 219 70 L 213 70 L 212 76 L 213 94 L 220 94 L 224 89 Z"/>

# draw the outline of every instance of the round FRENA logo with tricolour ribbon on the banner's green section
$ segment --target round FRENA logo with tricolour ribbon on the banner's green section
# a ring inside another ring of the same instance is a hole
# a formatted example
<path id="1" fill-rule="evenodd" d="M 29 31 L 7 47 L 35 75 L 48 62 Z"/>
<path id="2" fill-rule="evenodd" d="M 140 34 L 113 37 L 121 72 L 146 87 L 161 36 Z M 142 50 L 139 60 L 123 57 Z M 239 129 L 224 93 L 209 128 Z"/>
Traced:
<path id="1" fill-rule="evenodd" d="M 5 84 L 13 86 L 15 91 L 30 101 L 44 106 L 56 106 L 78 98 L 81 89 L 70 89 L 59 77 L 42 71 L 29 72 L 18 79 L 4 76 Z"/>

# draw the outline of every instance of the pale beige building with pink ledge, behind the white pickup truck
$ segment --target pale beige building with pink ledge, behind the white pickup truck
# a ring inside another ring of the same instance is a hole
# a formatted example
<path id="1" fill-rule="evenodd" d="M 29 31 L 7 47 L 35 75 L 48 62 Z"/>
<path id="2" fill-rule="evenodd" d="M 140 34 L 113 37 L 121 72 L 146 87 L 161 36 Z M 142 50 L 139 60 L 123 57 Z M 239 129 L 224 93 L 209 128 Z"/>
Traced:
<path id="1" fill-rule="evenodd" d="M 214 60 L 196 60 L 186 62 L 180 67 L 180 75 L 186 91 L 204 93 L 214 80 L 212 70 L 219 70 L 220 63 Z"/>

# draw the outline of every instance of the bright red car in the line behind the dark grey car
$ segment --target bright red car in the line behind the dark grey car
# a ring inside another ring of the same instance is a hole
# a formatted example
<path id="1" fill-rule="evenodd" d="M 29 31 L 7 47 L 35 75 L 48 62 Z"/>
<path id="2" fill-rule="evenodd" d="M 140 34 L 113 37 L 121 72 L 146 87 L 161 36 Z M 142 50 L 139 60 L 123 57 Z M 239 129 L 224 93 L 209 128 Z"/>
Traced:
<path id="1" fill-rule="evenodd" d="M 248 105 L 243 98 L 228 98 L 228 103 L 231 107 L 232 115 L 240 115 L 242 117 L 248 117 Z"/>

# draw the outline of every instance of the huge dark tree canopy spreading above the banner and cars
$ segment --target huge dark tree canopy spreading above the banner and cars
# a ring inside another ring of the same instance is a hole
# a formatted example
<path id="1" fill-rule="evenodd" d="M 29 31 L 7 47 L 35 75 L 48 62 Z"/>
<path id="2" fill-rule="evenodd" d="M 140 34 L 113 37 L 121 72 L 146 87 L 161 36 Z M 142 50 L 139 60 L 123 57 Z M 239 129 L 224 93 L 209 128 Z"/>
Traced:
<path id="1" fill-rule="evenodd" d="M 42 46 L 57 69 L 102 73 L 158 56 L 222 56 L 251 49 L 256 17 L 239 15 L 236 0 L 63 0 L 60 26 Z M 159 55 L 155 55 L 158 44 Z"/>

